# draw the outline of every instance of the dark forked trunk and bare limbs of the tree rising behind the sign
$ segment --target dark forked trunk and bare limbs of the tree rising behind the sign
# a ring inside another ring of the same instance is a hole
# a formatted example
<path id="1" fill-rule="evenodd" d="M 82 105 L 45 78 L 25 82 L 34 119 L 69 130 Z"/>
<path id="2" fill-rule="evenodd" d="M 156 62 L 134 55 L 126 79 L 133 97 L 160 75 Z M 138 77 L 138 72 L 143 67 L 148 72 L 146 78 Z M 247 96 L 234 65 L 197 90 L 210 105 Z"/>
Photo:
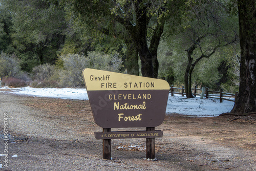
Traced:
<path id="1" fill-rule="evenodd" d="M 127 29 L 133 37 L 136 44 L 138 54 L 141 60 L 141 74 L 144 77 L 157 78 L 159 63 L 157 60 L 157 49 L 160 42 L 160 37 L 163 33 L 165 18 L 161 18 L 161 22 L 157 24 L 154 35 L 151 41 L 152 46 L 148 48 L 147 42 L 147 27 L 152 17 L 148 9 L 153 5 L 151 2 L 144 2 L 143 0 L 133 0 L 127 2 L 126 7 L 130 7 L 132 2 L 133 9 L 136 15 L 136 24 L 130 20 L 126 20 L 119 15 L 115 15 L 115 19 Z M 159 13 L 163 9 L 159 10 Z M 132 18 L 134 19 L 134 18 Z M 152 50 L 152 51 L 151 51 Z"/>

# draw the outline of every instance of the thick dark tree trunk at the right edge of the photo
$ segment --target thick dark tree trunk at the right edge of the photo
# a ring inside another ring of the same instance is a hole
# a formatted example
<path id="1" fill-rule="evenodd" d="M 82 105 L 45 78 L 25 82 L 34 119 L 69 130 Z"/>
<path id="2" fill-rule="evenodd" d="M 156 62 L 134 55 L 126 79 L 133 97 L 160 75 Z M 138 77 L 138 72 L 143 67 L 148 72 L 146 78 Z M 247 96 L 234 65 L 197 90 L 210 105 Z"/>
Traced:
<path id="1" fill-rule="evenodd" d="M 241 46 L 240 87 L 231 113 L 256 111 L 256 8 L 254 0 L 239 0 L 239 29 Z"/>

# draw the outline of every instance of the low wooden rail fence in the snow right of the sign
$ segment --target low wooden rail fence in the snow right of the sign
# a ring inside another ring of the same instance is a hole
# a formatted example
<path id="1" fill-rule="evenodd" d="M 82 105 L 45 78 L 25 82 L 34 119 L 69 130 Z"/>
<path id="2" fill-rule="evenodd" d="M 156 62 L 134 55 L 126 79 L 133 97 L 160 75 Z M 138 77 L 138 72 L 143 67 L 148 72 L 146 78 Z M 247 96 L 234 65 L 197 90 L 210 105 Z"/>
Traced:
<path id="1" fill-rule="evenodd" d="M 198 89 L 197 86 L 195 86 L 195 88 L 191 90 L 195 97 L 197 97 L 197 95 L 201 96 L 201 93 L 203 91 L 202 89 Z M 199 93 L 200 91 L 201 93 Z M 172 94 L 172 96 L 174 96 L 174 94 L 181 94 L 181 96 L 186 95 L 184 86 L 182 86 L 181 88 L 176 88 L 174 87 L 174 85 L 172 85 L 172 87 L 170 87 L 170 93 Z M 205 88 L 204 97 L 220 99 L 220 103 L 222 103 L 223 100 L 236 101 L 238 97 L 238 92 L 236 92 L 235 94 L 232 94 L 232 93 L 223 92 L 223 89 L 220 89 L 220 91 L 210 91 L 209 88 Z M 229 98 L 232 98 L 232 99 L 229 99 Z"/>

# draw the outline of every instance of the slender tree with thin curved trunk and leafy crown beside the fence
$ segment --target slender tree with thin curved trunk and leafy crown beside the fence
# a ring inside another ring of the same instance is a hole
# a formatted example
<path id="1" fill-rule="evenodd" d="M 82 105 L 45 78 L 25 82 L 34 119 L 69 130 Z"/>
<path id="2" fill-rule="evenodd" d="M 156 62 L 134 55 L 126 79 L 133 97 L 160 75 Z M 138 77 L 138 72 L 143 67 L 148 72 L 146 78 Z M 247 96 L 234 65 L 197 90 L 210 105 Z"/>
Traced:
<path id="1" fill-rule="evenodd" d="M 228 14 L 225 5 L 217 1 L 191 3 L 182 37 L 187 42 L 187 66 L 184 87 L 187 98 L 191 92 L 191 76 L 197 63 L 214 55 L 221 47 L 238 41 L 236 17 Z M 195 58 L 195 59 L 194 59 Z"/>

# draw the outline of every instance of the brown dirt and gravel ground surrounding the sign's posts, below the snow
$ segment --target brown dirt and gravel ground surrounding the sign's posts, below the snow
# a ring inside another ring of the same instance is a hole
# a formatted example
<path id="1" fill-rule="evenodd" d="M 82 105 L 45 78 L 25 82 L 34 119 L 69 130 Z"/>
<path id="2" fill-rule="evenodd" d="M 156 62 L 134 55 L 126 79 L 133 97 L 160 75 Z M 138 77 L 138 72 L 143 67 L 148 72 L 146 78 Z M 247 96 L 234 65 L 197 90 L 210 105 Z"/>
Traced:
<path id="1" fill-rule="evenodd" d="M 0 170 L 256 170 L 256 115 L 186 117 L 168 114 L 156 127 L 157 161 L 145 160 L 140 139 L 112 139 L 113 160 L 102 159 L 87 100 L 18 96 L 0 92 L 0 134 L 8 114 L 8 167 Z M 112 129 L 137 131 L 145 128 Z M 5 142 L 5 141 L 4 141 Z M 0 154 L 6 146 L 1 141 Z M 17 157 L 12 157 L 17 155 Z"/>

